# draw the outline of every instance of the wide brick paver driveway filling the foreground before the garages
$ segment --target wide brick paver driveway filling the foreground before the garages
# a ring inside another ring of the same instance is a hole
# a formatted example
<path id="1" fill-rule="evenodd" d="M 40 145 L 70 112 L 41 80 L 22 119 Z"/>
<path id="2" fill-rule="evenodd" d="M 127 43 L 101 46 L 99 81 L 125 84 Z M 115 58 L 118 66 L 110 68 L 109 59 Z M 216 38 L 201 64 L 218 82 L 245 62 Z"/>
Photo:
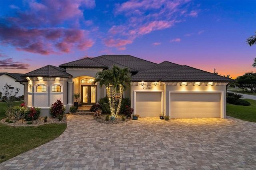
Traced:
<path id="1" fill-rule="evenodd" d="M 117 125 L 72 115 L 55 140 L 1 169 L 256 169 L 256 123 L 139 118 Z"/>

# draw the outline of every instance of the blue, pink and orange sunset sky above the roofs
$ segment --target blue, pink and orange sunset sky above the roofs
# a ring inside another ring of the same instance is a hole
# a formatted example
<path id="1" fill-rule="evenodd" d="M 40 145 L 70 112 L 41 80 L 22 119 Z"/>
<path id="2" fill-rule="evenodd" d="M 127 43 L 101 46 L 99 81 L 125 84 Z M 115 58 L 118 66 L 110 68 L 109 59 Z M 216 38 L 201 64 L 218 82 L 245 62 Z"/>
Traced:
<path id="1" fill-rule="evenodd" d="M 0 0 L 0 72 L 104 54 L 236 78 L 252 67 L 256 1 Z"/>

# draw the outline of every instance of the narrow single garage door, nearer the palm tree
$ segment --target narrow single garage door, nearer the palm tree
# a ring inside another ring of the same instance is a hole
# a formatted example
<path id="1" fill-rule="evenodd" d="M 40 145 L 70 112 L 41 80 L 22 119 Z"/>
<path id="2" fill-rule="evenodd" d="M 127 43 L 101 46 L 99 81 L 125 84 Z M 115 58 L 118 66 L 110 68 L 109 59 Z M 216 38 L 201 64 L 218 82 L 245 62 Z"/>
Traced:
<path id="1" fill-rule="evenodd" d="M 137 92 L 136 114 L 140 117 L 159 117 L 161 113 L 161 92 Z"/>

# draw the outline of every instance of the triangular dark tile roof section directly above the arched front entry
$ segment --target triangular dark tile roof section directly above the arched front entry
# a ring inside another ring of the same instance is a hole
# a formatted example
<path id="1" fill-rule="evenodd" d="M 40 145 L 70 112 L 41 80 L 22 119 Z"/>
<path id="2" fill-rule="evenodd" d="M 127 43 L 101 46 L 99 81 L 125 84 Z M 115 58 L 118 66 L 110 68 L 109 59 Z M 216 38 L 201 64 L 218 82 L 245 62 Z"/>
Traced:
<path id="1" fill-rule="evenodd" d="M 95 61 L 93 59 L 90 59 L 88 57 L 83 59 L 78 59 L 76 61 L 71 61 L 69 63 L 61 64 L 60 67 L 66 68 L 66 67 L 85 67 L 85 68 L 108 68 L 108 66 L 99 63 L 98 61 Z"/>

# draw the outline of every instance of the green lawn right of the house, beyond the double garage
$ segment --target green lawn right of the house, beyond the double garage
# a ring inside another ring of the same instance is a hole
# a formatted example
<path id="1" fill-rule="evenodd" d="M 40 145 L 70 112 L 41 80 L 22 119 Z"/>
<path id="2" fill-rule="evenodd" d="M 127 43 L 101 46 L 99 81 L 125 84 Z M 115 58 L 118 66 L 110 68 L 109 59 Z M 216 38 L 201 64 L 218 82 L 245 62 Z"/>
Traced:
<path id="1" fill-rule="evenodd" d="M 243 99 L 251 103 L 250 106 L 238 106 L 227 103 L 227 116 L 248 122 L 256 122 L 256 101 Z"/>

